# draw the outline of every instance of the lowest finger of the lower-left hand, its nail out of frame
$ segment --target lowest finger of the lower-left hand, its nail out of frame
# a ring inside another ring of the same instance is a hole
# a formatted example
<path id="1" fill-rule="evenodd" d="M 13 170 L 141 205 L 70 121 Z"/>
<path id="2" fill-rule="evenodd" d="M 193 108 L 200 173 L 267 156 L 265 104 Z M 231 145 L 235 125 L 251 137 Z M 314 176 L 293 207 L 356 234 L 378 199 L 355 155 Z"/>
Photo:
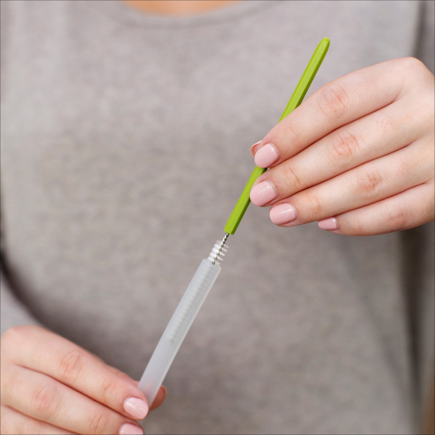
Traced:
<path id="1" fill-rule="evenodd" d="M 0 428 L 2 435 L 74 435 L 74 432 L 35 420 L 15 409 L 9 408 L 9 406 L 3 405 L 0 406 Z"/>

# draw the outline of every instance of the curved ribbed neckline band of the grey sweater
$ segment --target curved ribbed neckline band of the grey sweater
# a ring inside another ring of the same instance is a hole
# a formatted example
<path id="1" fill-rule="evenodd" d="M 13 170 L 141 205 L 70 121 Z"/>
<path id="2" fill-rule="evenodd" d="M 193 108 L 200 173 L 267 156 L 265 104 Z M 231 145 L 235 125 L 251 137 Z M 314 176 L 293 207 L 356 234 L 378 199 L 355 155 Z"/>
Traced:
<path id="1" fill-rule="evenodd" d="M 91 6 L 111 18 L 136 26 L 147 27 L 196 27 L 207 24 L 237 20 L 246 15 L 258 13 L 265 7 L 280 0 L 245 0 L 240 3 L 183 17 L 165 16 L 142 12 L 120 0 L 80 0 L 84 6 Z"/>

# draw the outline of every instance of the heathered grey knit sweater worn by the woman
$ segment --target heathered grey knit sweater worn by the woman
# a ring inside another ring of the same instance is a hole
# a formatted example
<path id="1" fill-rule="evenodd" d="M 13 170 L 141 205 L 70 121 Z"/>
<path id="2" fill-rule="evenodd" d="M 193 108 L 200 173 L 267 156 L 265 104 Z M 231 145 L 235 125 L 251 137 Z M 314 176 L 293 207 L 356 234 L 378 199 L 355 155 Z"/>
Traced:
<path id="1" fill-rule="evenodd" d="M 2 2 L 3 3 L 3 2 Z M 138 378 L 318 41 L 311 91 L 418 55 L 434 2 L 2 4 L 1 330 L 40 322 Z M 415 432 L 434 337 L 433 224 L 278 228 L 250 206 L 148 434 Z"/>

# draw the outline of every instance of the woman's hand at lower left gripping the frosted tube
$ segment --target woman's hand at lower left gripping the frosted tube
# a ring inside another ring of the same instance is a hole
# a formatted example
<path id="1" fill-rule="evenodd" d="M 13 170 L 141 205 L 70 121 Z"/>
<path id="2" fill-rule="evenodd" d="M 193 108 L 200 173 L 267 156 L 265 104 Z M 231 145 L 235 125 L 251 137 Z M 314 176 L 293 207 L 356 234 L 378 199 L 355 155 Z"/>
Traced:
<path id="1" fill-rule="evenodd" d="M 0 344 L 2 434 L 143 434 L 148 402 L 134 381 L 65 338 L 18 326 Z M 153 407 L 166 395 L 161 387 Z"/>

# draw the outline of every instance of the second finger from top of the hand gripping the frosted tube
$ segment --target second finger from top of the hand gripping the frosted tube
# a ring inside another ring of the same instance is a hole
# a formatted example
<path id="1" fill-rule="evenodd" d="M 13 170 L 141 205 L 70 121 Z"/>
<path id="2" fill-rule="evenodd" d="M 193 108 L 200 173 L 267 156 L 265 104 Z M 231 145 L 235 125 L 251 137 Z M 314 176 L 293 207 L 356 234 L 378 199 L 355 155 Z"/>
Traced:
<path id="1" fill-rule="evenodd" d="M 80 434 L 125 433 L 126 425 L 143 433 L 133 420 L 40 372 L 12 365 L 5 378 L 2 403 L 29 417 Z"/>

